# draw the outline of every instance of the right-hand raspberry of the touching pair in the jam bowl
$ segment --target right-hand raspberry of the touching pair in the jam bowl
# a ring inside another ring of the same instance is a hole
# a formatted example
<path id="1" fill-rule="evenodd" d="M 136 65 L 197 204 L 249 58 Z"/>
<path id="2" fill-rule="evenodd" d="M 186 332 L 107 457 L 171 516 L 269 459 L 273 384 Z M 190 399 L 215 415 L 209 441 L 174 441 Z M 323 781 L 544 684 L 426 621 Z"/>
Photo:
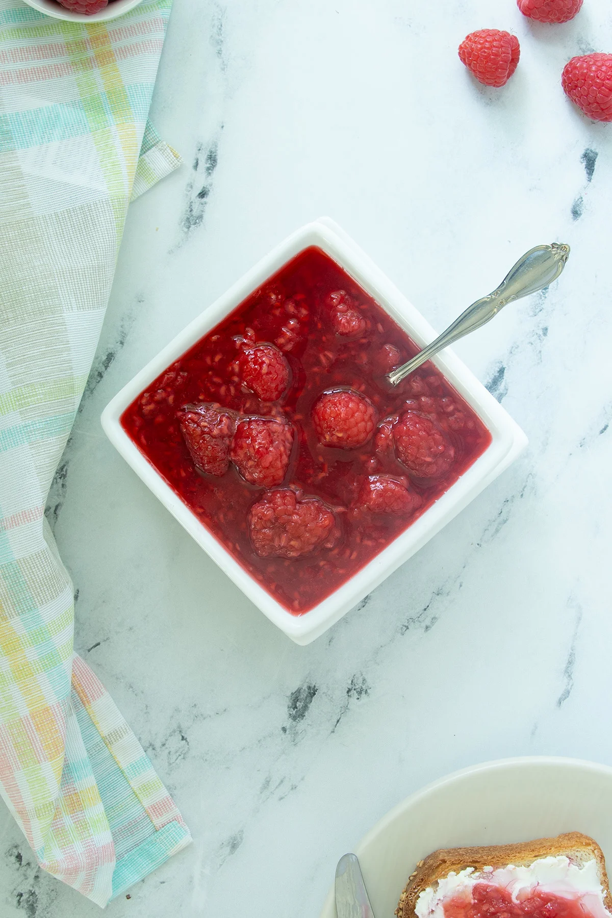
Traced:
<path id="1" fill-rule="evenodd" d="M 230 459 L 251 485 L 283 483 L 294 444 L 291 424 L 273 418 L 241 420 L 231 444 Z"/>

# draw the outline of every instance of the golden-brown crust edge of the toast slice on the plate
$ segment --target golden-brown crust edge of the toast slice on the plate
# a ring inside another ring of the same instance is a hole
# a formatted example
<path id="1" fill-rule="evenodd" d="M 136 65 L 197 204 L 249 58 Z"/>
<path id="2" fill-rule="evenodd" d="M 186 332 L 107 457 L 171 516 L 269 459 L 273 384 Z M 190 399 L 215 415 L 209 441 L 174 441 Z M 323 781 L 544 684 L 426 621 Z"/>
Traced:
<path id="1" fill-rule="evenodd" d="M 612 912 L 612 896 L 607 882 L 606 860 L 597 843 L 581 832 L 568 832 L 556 838 L 538 838 L 533 842 L 518 845 L 482 845 L 473 848 L 440 848 L 419 861 L 414 873 L 408 879 L 395 914 L 397 918 L 416 918 L 415 906 L 423 890 L 434 886 L 439 879 L 448 877 L 451 871 L 459 873 L 468 867 L 482 870 L 484 867 L 505 868 L 529 867 L 540 857 L 569 857 L 574 864 L 582 866 L 595 858 L 599 881 L 604 890 L 604 903 Z"/>

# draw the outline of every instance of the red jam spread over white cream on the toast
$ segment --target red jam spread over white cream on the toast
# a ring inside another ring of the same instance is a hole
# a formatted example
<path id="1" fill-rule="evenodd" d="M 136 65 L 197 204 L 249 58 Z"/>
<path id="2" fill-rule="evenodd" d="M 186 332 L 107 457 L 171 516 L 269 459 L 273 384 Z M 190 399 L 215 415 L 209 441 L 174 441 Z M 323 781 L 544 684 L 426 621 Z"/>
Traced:
<path id="1" fill-rule="evenodd" d="M 474 883 L 472 897 L 457 895 L 442 903 L 445 918 L 588 918 L 579 895 L 565 897 L 534 887 L 518 901 L 504 887 Z"/>

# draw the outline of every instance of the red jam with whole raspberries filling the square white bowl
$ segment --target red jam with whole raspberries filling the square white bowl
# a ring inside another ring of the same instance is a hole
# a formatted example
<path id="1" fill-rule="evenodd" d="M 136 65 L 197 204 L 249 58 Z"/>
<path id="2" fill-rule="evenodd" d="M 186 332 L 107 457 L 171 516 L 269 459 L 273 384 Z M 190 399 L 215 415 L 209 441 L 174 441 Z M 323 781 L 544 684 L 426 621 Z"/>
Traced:
<path id="1" fill-rule="evenodd" d="M 417 351 L 312 247 L 158 376 L 121 423 L 298 615 L 383 551 L 491 442 L 432 364 L 399 386 L 386 381 Z"/>

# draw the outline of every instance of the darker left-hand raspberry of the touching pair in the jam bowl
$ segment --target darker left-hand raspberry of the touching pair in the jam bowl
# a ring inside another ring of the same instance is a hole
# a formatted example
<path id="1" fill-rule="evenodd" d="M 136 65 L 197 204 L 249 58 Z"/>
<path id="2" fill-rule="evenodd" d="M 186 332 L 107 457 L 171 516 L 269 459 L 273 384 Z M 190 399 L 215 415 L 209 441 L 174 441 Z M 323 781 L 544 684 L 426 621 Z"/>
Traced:
<path id="1" fill-rule="evenodd" d="M 236 430 L 234 414 L 218 405 L 187 405 L 178 412 L 178 418 L 195 466 L 208 475 L 225 475 Z"/>

